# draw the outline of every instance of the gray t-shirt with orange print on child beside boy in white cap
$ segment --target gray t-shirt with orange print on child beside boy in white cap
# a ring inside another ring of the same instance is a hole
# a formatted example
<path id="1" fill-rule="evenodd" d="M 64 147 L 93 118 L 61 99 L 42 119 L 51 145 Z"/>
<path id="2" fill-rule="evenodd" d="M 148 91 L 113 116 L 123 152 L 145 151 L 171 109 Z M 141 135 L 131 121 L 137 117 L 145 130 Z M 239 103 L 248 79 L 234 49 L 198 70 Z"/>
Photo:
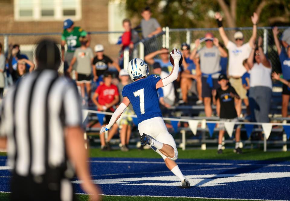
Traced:
<path id="1" fill-rule="evenodd" d="M 86 49 L 76 48 L 75 53 L 73 54 L 73 57 L 76 57 L 76 61 L 77 61 L 76 71 L 79 74 L 92 73 L 91 61 L 94 55 L 91 48 L 86 48 Z"/>

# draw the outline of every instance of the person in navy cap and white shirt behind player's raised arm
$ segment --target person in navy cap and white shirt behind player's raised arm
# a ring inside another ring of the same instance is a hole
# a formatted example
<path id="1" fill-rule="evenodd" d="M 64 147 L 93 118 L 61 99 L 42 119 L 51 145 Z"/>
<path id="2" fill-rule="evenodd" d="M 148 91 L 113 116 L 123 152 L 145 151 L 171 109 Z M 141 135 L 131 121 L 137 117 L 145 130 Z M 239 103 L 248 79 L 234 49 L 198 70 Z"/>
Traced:
<path id="1" fill-rule="evenodd" d="M 161 66 L 158 62 L 155 62 L 153 64 L 153 74 L 159 75 L 161 79 L 164 79 L 169 76 L 168 73 L 161 70 Z M 174 93 L 174 86 L 173 83 L 170 83 L 166 85 L 165 87 L 162 87 L 163 89 L 163 95 L 164 95 L 164 102 L 166 104 L 169 104 L 170 106 L 174 105 L 175 101 L 175 93 Z"/>

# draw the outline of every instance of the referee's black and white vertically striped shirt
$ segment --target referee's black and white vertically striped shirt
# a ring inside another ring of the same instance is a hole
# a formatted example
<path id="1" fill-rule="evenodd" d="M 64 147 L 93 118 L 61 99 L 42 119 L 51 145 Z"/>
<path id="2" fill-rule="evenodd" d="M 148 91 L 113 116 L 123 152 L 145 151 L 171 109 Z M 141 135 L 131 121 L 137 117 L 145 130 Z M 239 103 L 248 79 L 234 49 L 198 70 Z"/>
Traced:
<path id="1" fill-rule="evenodd" d="M 8 165 L 20 176 L 63 166 L 64 128 L 81 125 L 75 85 L 53 70 L 32 72 L 8 91 L 2 104 L 0 128 L 8 138 Z"/>

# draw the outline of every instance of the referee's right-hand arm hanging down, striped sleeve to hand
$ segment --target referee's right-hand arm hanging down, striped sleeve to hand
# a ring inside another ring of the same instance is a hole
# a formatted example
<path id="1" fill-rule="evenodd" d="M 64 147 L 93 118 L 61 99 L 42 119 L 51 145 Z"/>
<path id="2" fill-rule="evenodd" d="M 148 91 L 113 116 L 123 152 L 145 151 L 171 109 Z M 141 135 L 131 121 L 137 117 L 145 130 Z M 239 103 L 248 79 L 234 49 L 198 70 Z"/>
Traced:
<path id="1" fill-rule="evenodd" d="M 76 168 L 77 176 L 82 180 L 82 188 L 90 195 L 91 200 L 99 200 L 98 187 L 91 180 L 88 155 L 85 150 L 84 131 L 81 128 L 82 113 L 76 87 L 70 86 L 64 95 L 65 140 L 67 153 Z"/>

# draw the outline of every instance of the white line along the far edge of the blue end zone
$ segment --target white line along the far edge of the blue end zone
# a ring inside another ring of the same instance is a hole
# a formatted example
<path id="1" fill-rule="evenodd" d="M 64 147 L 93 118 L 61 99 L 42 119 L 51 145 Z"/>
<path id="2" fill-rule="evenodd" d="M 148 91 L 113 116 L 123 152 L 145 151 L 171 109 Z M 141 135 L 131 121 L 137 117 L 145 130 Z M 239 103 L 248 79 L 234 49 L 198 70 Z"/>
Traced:
<path id="1" fill-rule="evenodd" d="M 90 163 L 145 163 L 145 164 L 164 164 L 164 162 L 157 161 L 118 161 L 118 160 L 89 160 Z M 283 167 L 290 166 L 290 164 L 247 164 L 247 163 L 193 163 L 193 162 L 178 162 L 177 164 L 186 165 L 236 165 L 236 166 L 266 166 L 266 167 Z"/>

